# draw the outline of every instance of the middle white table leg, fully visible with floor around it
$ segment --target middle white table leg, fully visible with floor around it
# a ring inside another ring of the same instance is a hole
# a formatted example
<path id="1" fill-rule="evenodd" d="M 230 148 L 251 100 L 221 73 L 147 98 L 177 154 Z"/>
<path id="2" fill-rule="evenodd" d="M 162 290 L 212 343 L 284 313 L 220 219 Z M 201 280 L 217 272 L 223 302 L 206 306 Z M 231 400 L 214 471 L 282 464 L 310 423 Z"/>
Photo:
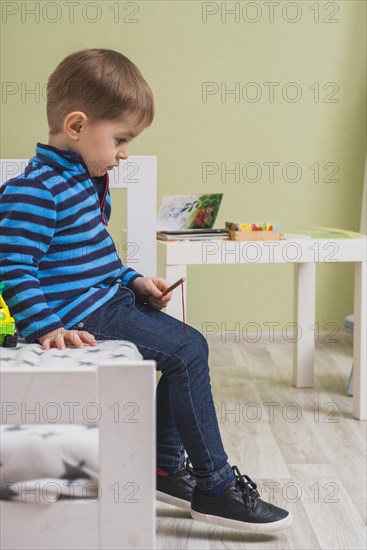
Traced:
<path id="1" fill-rule="evenodd" d="M 298 338 L 293 344 L 293 384 L 297 388 L 312 388 L 314 384 L 315 302 L 316 264 L 294 264 L 294 321 Z"/>

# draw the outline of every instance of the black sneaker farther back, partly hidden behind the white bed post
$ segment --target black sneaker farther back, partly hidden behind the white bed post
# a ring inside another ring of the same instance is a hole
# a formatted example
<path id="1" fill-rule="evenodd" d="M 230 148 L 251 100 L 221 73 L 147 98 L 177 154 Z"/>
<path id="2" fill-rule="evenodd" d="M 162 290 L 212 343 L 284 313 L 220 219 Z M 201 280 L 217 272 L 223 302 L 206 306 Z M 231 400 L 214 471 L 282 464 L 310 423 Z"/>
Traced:
<path id="1" fill-rule="evenodd" d="M 157 474 L 156 499 L 182 510 L 190 510 L 195 484 L 194 472 L 187 458 L 186 464 L 175 474 L 168 476 Z"/>

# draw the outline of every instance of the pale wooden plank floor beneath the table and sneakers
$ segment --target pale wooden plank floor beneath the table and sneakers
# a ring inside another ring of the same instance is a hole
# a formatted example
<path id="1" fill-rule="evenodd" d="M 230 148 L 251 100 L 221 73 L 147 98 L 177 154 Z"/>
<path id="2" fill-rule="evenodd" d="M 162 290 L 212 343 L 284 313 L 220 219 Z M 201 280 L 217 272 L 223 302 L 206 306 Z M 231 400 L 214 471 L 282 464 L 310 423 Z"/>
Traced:
<path id="1" fill-rule="evenodd" d="M 210 343 L 214 401 L 229 462 L 265 500 L 292 511 L 274 535 L 207 526 L 157 504 L 159 549 L 365 549 L 366 422 L 352 418 L 348 344 L 318 344 L 315 387 L 292 387 L 288 343 Z"/>

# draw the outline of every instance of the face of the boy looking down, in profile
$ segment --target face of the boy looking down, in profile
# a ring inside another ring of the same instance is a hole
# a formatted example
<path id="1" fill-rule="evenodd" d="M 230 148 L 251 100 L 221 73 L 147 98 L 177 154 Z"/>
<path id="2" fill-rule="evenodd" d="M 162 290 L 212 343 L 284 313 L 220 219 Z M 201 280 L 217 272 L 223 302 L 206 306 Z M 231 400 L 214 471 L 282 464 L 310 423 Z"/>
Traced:
<path id="1" fill-rule="evenodd" d="M 128 158 L 130 141 L 144 128 L 134 116 L 123 121 L 86 121 L 73 149 L 82 157 L 92 177 L 103 176 L 118 166 L 120 160 Z"/>

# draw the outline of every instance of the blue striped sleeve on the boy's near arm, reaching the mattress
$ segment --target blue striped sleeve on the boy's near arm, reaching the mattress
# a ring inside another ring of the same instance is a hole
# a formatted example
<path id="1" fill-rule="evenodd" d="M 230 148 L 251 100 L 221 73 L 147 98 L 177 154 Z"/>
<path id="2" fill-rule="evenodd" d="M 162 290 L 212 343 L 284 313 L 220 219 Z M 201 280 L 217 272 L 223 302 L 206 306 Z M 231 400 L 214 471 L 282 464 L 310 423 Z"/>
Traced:
<path id="1" fill-rule="evenodd" d="M 0 200 L 0 279 L 4 299 L 28 342 L 63 326 L 40 289 L 37 270 L 50 246 L 56 206 L 50 191 L 22 177 L 2 186 Z"/>

